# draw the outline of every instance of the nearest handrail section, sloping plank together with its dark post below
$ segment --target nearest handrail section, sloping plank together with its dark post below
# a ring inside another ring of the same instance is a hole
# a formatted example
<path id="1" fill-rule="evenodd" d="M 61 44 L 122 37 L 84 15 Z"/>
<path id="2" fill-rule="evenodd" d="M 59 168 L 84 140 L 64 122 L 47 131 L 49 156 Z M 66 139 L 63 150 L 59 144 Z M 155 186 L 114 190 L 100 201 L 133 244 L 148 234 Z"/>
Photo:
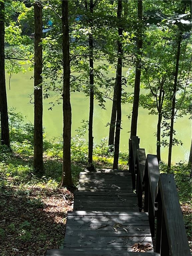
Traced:
<path id="1" fill-rule="evenodd" d="M 158 183 L 158 218 L 161 222 L 161 232 L 156 240 L 167 237 L 167 246 L 162 243 L 156 246 L 156 252 L 161 255 L 190 256 L 187 234 L 183 221 L 183 214 L 179 204 L 179 197 L 173 174 L 161 174 Z M 161 237 L 160 237 L 161 235 Z"/>

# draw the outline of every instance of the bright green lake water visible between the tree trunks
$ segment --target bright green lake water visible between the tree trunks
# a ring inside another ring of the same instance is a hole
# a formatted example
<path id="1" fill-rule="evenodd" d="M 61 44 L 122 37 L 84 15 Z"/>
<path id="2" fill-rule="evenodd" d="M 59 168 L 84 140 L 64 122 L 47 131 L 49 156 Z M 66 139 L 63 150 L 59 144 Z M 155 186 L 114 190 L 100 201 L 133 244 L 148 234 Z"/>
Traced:
<path id="1" fill-rule="evenodd" d="M 123 75 L 125 74 L 126 69 L 124 68 Z M 27 121 L 31 122 L 33 122 L 33 104 L 29 103 L 29 95 L 33 93 L 33 79 L 30 79 L 32 75 L 32 72 L 14 74 L 11 78 L 10 90 L 7 76 L 8 106 L 15 107 L 17 112 L 21 112 L 27 117 Z M 127 90 L 131 92 L 133 88 L 127 88 Z M 43 126 L 45 127 L 48 139 L 62 135 L 62 104 L 54 106 L 52 111 L 48 110 L 51 106 L 49 102 L 54 100 L 54 98 L 45 99 L 43 103 Z M 71 106 L 72 136 L 74 136 L 76 134 L 75 130 L 81 126 L 82 119 L 89 119 L 89 99 L 83 93 L 72 93 Z M 106 124 L 110 122 L 111 106 L 112 101 L 107 100 L 106 110 L 102 110 L 97 102 L 95 102 L 93 119 L 95 143 L 99 143 L 103 137 L 108 136 L 109 127 L 106 127 Z M 127 115 L 131 114 L 131 107 L 131 104 L 122 106 L 121 151 L 128 150 L 128 131 L 130 131 L 131 120 L 127 118 Z M 156 125 L 157 116 L 148 115 L 146 109 L 139 108 L 138 136 L 140 137 L 140 148 L 145 148 L 146 154 L 156 154 L 156 138 L 154 137 Z M 183 145 L 173 147 L 172 162 L 187 161 L 191 143 L 191 123 L 188 117 L 178 118 L 175 122 L 174 129 L 176 130 L 177 138 L 183 141 Z M 162 148 L 161 152 L 162 160 L 167 162 L 168 149 Z"/>

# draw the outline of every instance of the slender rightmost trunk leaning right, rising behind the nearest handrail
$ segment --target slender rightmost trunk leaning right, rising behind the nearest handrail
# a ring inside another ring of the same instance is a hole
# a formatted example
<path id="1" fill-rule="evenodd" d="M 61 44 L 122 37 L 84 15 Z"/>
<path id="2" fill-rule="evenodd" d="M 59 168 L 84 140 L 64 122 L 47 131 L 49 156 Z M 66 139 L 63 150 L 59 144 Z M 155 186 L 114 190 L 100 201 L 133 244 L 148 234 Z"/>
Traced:
<path id="1" fill-rule="evenodd" d="M 174 116 L 175 116 L 175 99 L 177 92 L 177 78 L 178 78 L 178 70 L 179 70 L 179 57 L 181 50 L 181 35 L 179 35 L 178 47 L 177 47 L 177 56 L 176 56 L 176 65 L 175 65 L 175 79 L 173 86 L 173 99 L 172 99 L 172 110 L 171 110 L 171 126 L 170 126 L 170 136 L 169 136 L 169 153 L 168 153 L 168 171 L 171 168 L 171 155 L 172 155 L 172 145 L 173 145 L 173 125 L 174 125 Z"/>

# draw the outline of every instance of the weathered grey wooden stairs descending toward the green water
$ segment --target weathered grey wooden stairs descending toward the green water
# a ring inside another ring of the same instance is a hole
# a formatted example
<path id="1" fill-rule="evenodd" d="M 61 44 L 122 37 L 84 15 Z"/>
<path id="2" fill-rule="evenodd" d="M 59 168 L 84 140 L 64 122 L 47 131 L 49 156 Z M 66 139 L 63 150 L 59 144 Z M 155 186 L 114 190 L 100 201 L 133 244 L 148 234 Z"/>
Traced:
<path id="1" fill-rule="evenodd" d="M 140 256 L 135 243 L 152 246 L 148 213 L 139 212 L 127 170 L 80 173 L 74 210 L 67 215 L 64 248 L 46 256 Z M 149 250 L 145 256 L 159 256 Z"/>

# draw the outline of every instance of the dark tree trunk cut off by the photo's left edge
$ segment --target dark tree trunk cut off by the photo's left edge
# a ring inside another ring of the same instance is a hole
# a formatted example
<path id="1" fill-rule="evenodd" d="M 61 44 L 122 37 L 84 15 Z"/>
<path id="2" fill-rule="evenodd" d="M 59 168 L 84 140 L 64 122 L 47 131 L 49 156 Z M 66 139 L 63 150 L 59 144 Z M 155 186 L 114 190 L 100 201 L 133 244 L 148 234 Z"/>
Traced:
<path id="1" fill-rule="evenodd" d="M 0 114 L 1 144 L 10 146 L 7 93 L 5 84 L 5 3 L 0 2 Z"/>

